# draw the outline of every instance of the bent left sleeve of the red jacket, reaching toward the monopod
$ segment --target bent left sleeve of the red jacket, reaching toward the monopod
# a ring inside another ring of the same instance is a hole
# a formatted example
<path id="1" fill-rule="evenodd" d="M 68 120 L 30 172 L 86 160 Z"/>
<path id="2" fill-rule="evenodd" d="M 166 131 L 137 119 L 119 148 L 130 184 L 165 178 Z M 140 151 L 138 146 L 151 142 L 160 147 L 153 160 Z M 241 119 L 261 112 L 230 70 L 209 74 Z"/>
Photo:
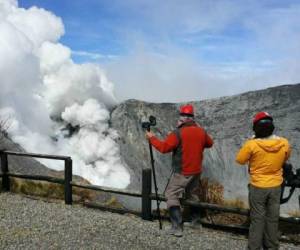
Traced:
<path id="1" fill-rule="evenodd" d="M 178 139 L 175 133 L 170 133 L 165 140 L 159 140 L 153 136 L 149 139 L 151 145 L 161 153 L 172 152 L 178 146 Z"/>

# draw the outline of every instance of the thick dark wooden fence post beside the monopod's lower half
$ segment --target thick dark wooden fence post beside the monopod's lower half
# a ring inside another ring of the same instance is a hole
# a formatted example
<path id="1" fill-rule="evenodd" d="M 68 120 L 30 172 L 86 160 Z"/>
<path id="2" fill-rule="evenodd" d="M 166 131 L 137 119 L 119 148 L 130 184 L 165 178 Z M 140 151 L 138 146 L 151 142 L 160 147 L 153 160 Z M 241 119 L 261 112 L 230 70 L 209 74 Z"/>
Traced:
<path id="1" fill-rule="evenodd" d="M 151 195 L 152 180 L 151 169 L 143 169 L 142 171 L 142 219 L 152 220 Z"/>

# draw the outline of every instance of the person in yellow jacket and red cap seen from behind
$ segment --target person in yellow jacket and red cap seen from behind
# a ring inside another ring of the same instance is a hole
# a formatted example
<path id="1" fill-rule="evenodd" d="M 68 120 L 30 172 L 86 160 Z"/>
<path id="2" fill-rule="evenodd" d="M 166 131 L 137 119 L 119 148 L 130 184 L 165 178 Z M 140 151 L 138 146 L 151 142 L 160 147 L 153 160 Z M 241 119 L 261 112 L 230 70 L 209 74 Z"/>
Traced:
<path id="1" fill-rule="evenodd" d="M 282 167 L 291 149 L 287 139 L 273 135 L 269 113 L 254 116 L 253 130 L 254 137 L 245 142 L 236 156 L 237 163 L 248 164 L 250 174 L 248 249 L 278 249 Z"/>

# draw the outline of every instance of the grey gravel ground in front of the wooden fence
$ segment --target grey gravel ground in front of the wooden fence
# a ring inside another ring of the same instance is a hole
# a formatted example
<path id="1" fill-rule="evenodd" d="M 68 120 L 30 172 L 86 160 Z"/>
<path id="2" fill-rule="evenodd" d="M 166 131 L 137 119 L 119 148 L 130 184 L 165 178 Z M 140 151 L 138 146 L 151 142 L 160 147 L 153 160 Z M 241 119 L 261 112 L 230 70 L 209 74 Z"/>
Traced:
<path id="1" fill-rule="evenodd" d="M 169 226 L 164 222 L 163 227 Z M 245 249 L 244 236 L 185 228 L 169 236 L 158 222 L 63 202 L 0 193 L 1 249 Z M 281 243 L 280 249 L 299 249 Z"/>

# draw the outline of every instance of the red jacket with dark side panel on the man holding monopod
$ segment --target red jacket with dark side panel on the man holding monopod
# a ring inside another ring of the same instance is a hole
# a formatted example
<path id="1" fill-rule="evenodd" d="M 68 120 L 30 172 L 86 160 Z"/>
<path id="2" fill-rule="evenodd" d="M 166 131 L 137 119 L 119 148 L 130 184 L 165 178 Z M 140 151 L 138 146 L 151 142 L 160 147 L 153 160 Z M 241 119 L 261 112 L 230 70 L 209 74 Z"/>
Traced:
<path id="1" fill-rule="evenodd" d="M 213 145 L 213 140 L 203 128 L 189 122 L 171 132 L 163 141 L 151 137 L 150 143 L 161 153 L 173 151 L 175 173 L 194 175 L 202 172 L 203 151 Z"/>

